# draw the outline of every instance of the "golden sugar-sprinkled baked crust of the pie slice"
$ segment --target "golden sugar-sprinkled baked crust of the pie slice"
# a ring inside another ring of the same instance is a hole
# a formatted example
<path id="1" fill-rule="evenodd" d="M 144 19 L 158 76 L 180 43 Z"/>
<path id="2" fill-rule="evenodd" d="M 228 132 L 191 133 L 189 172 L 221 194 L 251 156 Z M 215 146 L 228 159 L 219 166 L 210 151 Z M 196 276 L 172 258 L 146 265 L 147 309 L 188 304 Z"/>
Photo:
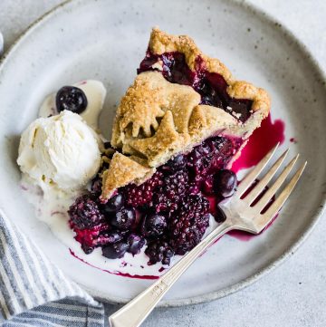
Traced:
<path id="1" fill-rule="evenodd" d="M 120 153 L 113 156 L 103 176 L 104 198 L 109 198 L 116 188 L 146 180 L 155 168 L 209 136 L 223 134 L 248 139 L 270 109 L 266 91 L 248 82 L 235 81 L 223 63 L 201 53 L 185 35 L 169 35 L 154 28 L 149 50 L 155 54 L 184 53 L 192 70 L 199 55 L 206 70 L 225 78 L 231 97 L 253 101 L 253 112 L 243 123 L 230 112 L 199 104 L 200 94 L 192 87 L 168 82 L 161 72 L 141 72 L 120 102 L 111 139 L 114 148 L 131 157 Z M 155 67 L 159 70 L 159 63 Z"/>

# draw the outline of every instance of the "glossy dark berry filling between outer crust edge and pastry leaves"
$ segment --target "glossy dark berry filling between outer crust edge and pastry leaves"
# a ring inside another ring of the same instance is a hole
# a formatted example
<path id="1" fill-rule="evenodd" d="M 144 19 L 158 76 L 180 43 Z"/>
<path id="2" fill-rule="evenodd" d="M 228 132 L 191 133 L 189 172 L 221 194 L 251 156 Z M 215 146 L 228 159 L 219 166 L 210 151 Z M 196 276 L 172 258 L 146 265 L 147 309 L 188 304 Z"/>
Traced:
<path id="1" fill-rule="evenodd" d="M 241 122 L 245 122 L 252 113 L 253 101 L 230 97 L 224 77 L 208 72 L 200 56 L 197 56 L 195 71 L 192 71 L 187 66 L 184 53 L 154 54 L 148 50 L 138 73 L 148 71 L 162 72 L 168 82 L 191 86 L 200 94 L 200 104 L 222 108 Z"/>

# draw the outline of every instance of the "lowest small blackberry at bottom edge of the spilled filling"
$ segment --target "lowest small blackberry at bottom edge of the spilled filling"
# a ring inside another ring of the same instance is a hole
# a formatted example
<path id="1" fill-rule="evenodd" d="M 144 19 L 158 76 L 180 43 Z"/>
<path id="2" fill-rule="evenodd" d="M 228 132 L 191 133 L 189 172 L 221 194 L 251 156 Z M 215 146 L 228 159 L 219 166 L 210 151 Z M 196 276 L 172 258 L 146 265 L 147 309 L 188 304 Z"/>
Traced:
<path id="1" fill-rule="evenodd" d="M 159 262 L 162 264 L 170 264 L 174 252 L 172 247 L 168 245 L 168 242 L 158 239 L 149 242 L 145 254 L 149 256 L 149 265 Z"/>

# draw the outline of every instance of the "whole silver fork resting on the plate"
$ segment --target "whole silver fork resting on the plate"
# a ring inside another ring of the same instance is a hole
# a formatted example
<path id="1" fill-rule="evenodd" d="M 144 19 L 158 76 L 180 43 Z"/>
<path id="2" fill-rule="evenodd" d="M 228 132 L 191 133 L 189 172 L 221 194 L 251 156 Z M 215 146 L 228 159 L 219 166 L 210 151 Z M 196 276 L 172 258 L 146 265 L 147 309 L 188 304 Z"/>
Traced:
<path id="1" fill-rule="evenodd" d="M 111 327 L 138 327 L 155 308 L 163 295 L 168 292 L 169 288 L 177 282 L 181 274 L 187 270 L 190 264 L 193 264 L 199 255 L 225 233 L 233 229 L 238 229 L 252 234 L 259 234 L 264 230 L 265 226 L 268 226 L 292 193 L 293 188 L 302 176 L 303 169 L 307 164 L 307 162 L 305 162 L 302 167 L 294 173 L 289 183 L 273 201 L 273 204 L 262 213 L 264 207 L 266 207 L 276 191 L 282 186 L 285 178 L 290 174 L 299 157 L 299 155 L 297 155 L 290 161 L 279 177 L 276 178 L 273 185 L 268 188 L 263 197 L 260 197 L 257 201 L 257 197 L 261 195 L 278 168 L 281 167 L 289 152 L 287 149 L 253 188 L 252 186 L 255 179 L 259 176 L 270 159 L 272 159 L 277 148 L 278 144 L 245 176 L 239 184 L 235 195 L 227 203 L 221 205 L 226 215 L 225 222 L 217 226 L 216 229 L 206 236 L 194 249 L 170 268 L 166 274 L 161 276 L 157 282 L 123 306 L 118 312 L 113 313 L 109 317 Z M 252 189 L 249 191 L 248 188 Z M 254 200 L 256 200 L 256 203 Z"/>

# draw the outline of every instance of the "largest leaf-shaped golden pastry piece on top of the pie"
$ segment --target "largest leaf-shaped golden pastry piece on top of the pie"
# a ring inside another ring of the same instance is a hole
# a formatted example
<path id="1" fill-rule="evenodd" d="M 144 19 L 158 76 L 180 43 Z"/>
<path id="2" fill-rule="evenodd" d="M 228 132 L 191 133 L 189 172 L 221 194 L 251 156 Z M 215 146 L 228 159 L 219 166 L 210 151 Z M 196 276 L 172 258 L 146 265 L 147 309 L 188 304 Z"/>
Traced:
<path id="1" fill-rule="evenodd" d="M 141 73 L 121 100 L 112 145 L 149 138 L 166 111 L 172 112 L 177 131 L 187 132 L 191 112 L 199 101 L 200 95 L 191 87 L 168 82 L 160 72 Z"/>

